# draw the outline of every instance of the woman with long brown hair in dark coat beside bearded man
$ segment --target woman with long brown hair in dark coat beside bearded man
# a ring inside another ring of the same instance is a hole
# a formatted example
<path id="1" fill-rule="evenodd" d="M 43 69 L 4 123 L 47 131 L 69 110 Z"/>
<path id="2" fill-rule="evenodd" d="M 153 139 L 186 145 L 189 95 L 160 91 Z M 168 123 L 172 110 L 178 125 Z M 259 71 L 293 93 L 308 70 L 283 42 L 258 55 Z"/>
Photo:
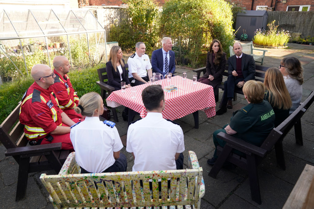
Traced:
<path id="1" fill-rule="evenodd" d="M 220 41 L 214 39 L 210 43 L 210 50 L 207 52 L 206 73 L 198 79 L 198 82 L 213 86 L 215 102 L 219 101 L 219 84 L 222 82 L 226 60 L 226 53 L 222 51 Z"/>

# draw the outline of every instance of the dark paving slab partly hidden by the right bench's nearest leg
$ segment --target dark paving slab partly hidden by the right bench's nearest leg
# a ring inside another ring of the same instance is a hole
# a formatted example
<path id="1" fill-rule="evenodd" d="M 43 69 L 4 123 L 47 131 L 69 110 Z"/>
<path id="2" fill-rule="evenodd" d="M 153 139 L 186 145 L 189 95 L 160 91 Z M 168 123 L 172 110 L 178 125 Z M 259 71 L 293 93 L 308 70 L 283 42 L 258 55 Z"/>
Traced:
<path id="1" fill-rule="evenodd" d="M 293 189 L 293 184 L 281 180 L 278 177 L 270 175 L 260 169 L 258 169 L 258 176 L 262 199 L 261 205 L 252 201 L 248 178 L 234 193 L 258 208 L 282 208 Z"/>

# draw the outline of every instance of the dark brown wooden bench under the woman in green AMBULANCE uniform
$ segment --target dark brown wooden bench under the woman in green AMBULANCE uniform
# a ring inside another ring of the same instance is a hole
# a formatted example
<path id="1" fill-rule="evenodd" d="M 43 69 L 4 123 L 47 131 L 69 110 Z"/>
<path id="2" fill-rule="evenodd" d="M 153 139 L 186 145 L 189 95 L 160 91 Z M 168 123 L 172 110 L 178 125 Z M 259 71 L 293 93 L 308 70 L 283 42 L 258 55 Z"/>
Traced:
<path id="1" fill-rule="evenodd" d="M 260 147 L 257 147 L 243 140 L 239 140 L 232 135 L 228 135 L 223 132 L 218 133 L 218 138 L 224 140 L 226 142 L 226 145 L 224 147 L 217 146 L 218 159 L 208 175 L 216 178 L 219 170 L 222 168 L 225 161 L 229 161 L 241 167 L 242 169 L 247 170 L 249 175 L 252 200 L 257 202 L 258 204 L 261 204 L 262 201 L 257 176 L 257 166 L 261 163 L 266 154 L 270 152 L 274 146 L 277 164 L 280 168 L 285 170 L 286 165 L 284 161 L 282 141 L 285 135 L 290 131 L 290 129 L 295 126 L 295 142 L 297 144 L 303 145 L 301 117 L 311 106 L 313 101 L 314 92 L 312 91 L 310 96 L 307 97 L 307 99 L 303 103 L 301 103 L 300 107 L 298 107 L 278 127 L 273 128 L 273 130 L 269 133 L 268 137 L 265 139 Z M 232 153 L 232 149 L 243 152 L 245 156 L 243 157 Z"/>

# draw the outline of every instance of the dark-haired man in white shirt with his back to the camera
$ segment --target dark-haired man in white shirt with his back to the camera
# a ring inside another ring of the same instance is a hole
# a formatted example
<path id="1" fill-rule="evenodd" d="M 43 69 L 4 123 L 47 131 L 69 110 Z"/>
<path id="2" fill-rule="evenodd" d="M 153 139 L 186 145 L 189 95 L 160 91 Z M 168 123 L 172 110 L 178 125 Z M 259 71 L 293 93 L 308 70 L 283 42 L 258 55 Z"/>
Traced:
<path id="1" fill-rule="evenodd" d="M 127 130 L 127 152 L 133 154 L 132 171 L 183 169 L 184 137 L 181 127 L 162 118 L 165 95 L 160 85 L 142 92 L 147 116 Z"/>

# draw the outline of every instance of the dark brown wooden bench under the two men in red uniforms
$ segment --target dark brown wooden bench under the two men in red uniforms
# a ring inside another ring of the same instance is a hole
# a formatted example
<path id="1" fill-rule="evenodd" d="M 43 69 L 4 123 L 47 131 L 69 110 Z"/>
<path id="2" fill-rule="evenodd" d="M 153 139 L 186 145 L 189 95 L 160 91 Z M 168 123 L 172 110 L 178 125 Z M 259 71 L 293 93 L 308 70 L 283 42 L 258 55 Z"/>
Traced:
<path id="1" fill-rule="evenodd" d="M 7 151 L 5 156 L 13 156 L 19 164 L 15 201 L 25 198 L 28 173 L 46 170 L 60 171 L 70 153 L 61 150 L 61 143 L 28 145 L 24 125 L 19 122 L 20 103 L 0 125 L 0 141 Z"/>

